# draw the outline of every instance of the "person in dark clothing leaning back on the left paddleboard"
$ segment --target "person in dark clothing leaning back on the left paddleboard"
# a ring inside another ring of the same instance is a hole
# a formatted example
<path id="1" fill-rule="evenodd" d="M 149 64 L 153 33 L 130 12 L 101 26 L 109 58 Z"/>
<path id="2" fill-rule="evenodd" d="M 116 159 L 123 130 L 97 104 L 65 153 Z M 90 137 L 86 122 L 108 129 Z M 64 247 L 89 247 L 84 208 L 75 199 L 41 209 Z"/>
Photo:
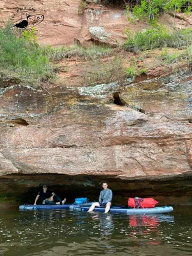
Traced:
<path id="1" fill-rule="evenodd" d="M 36 205 L 36 202 L 39 197 L 42 200 L 42 204 L 49 204 L 49 205 L 50 204 L 65 204 L 65 202 L 66 202 L 66 198 L 64 198 L 64 200 L 61 200 L 61 198 L 58 195 L 56 195 L 51 190 L 47 189 L 47 185 L 44 185 L 43 189 L 41 189 L 38 192 L 38 195 L 35 198 L 34 205 Z M 55 202 L 55 201 L 57 201 L 57 202 Z"/>

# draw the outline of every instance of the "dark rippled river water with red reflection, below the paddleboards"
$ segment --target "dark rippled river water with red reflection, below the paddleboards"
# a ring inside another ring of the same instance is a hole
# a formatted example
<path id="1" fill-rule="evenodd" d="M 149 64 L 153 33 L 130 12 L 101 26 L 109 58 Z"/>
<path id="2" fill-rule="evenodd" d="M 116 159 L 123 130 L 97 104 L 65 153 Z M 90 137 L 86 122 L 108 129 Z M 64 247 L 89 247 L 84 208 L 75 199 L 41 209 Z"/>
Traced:
<path id="1" fill-rule="evenodd" d="M 0 255 L 192 255 L 192 207 L 170 214 L 0 212 Z"/>

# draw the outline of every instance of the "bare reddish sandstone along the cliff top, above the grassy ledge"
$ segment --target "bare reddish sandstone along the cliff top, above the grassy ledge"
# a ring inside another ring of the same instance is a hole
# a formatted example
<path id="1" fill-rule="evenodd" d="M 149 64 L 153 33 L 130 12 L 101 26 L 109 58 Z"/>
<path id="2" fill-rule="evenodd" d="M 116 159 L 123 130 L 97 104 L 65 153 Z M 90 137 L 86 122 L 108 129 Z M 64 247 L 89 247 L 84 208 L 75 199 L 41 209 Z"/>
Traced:
<path id="1" fill-rule="evenodd" d="M 127 20 L 125 10 L 109 8 L 99 4 L 100 1 L 81 0 L 39 0 L 39 1 L 9 1 L 0 2 L 0 25 L 8 18 L 13 23 L 26 19 L 26 15 L 45 16 L 36 28 L 38 41 L 44 45 L 71 45 L 77 42 L 83 46 L 103 44 L 117 47 L 126 40 L 125 29 L 138 31 L 146 28 L 142 22 L 132 24 Z M 176 20 L 175 20 L 176 19 Z M 186 15 L 163 15 L 161 22 L 172 28 L 191 26 L 192 18 Z"/>

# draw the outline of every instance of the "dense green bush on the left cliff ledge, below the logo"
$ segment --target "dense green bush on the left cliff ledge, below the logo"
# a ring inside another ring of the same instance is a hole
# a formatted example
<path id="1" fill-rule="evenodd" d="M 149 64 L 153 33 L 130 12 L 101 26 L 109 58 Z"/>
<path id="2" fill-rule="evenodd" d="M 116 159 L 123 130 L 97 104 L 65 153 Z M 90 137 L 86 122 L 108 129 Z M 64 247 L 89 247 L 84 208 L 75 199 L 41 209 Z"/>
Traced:
<path id="1" fill-rule="evenodd" d="M 8 29 L 8 28 L 6 28 Z M 8 30 L 6 30 L 8 31 Z M 53 68 L 42 47 L 30 42 L 30 35 L 17 37 L 0 28 L 0 68 L 19 77 L 21 84 L 38 86 L 53 77 Z"/>

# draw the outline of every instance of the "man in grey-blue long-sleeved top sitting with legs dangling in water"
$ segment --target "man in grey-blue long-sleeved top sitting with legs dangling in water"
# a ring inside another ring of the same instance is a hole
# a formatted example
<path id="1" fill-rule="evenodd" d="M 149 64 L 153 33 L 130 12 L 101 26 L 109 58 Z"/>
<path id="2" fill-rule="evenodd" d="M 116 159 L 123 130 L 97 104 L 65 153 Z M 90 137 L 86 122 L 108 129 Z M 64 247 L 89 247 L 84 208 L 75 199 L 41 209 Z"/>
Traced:
<path id="1" fill-rule="evenodd" d="M 102 188 L 104 189 L 100 191 L 99 203 L 93 203 L 88 212 L 92 212 L 95 209 L 95 206 L 106 206 L 105 213 L 110 210 L 113 193 L 111 189 L 108 188 L 106 182 L 102 183 Z"/>

